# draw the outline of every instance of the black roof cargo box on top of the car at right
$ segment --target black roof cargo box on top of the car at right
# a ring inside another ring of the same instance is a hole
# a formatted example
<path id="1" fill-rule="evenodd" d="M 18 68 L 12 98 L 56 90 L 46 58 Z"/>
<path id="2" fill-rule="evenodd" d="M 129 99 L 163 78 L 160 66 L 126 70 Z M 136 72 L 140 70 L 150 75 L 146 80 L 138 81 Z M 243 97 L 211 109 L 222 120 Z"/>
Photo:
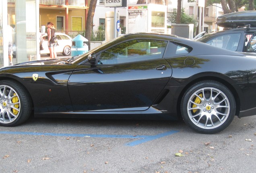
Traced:
<path id="1" fill-rule="evenodd" d="M 242 11 L 224 14 L 217 18 L 216 24 L 224 28 L 237 28 L 250 24 L 256 27 L 256 11 Z"/>

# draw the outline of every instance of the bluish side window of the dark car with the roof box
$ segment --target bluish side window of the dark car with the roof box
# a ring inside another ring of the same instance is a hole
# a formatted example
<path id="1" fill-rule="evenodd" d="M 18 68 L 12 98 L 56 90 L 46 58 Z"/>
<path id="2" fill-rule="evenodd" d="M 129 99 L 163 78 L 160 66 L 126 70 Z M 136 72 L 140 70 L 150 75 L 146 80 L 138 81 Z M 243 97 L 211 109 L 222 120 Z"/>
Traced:
<path id="1" fill-rule="evenodd" d="M 236 51 L 240 37 L 241 33 L 225 34 L 209 40 L 206 42 L 206 44 L 211 44 L 215 47 Z"/>

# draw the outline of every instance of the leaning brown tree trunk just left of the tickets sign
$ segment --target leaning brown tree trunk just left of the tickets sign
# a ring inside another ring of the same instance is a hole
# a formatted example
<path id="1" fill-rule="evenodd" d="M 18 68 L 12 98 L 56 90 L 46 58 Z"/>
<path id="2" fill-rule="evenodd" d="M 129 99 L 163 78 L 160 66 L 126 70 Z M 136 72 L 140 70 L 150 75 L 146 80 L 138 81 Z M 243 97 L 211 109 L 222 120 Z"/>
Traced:
<path id="1" fill-rule="evenodd" d="M 90 42 L 91 42 L 91 35 L 93 32 L 93 16 L 95 13 L 96 4 L 97 4 L 97 0 L 91 0 L 89 10 L 88 10 L 87 20 L 86 20 L 86 26 L 85 26 L 85 38 L 88 39 L 89 50 L 91 49 Z"/>

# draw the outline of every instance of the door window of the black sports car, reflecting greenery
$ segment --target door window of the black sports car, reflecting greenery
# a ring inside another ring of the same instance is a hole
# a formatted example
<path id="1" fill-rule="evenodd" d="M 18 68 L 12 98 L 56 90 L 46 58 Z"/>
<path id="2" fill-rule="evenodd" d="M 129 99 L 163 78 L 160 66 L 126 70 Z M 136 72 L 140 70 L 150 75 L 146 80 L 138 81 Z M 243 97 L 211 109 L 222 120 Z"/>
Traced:
<path id="1" fill-rule="evenodd" d="M 121 64 L 162 58 L 166 44 L 160 40 L 130 40 L 105 50 L 99 60 L 102 64 Z"/>

